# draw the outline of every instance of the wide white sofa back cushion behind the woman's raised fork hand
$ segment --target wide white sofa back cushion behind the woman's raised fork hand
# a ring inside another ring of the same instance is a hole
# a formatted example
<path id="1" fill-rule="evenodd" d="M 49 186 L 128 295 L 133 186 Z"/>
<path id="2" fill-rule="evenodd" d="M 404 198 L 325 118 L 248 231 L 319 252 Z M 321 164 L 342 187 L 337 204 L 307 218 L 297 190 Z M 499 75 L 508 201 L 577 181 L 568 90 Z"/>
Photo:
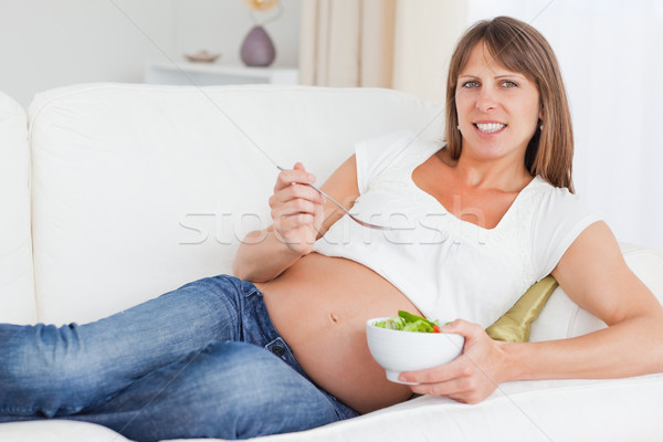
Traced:
<path id="1" fill-rule="evenodd" d="M 253 85 L 78 85 L 29 115 L 38 315 L 55 324 L 230 273 L 244 234 L 271 223 L 265 155 L 320 183 L 355 141 L 441 137 L 444 119 L 394 91 Z"/>

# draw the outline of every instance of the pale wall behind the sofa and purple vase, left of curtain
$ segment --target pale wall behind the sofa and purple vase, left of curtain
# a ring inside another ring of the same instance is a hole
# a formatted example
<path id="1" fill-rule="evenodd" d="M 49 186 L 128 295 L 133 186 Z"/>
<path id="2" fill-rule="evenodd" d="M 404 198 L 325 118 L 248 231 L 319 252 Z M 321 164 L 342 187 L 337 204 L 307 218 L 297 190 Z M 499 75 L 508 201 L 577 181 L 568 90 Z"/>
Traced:
<path id="1" fill-rule="evenodd" d="M 274 65 L 296 66 L 301 0 L 282 4 L 265 28 Z M 0 90 L 28 106 L 51 87 L 143 82 L 148 61 L 179 62 L 185 52 L 207 49 L 223 54 L 219 63 L 239 63 L 252 25 L 241 0 L 0 0 Z"/>

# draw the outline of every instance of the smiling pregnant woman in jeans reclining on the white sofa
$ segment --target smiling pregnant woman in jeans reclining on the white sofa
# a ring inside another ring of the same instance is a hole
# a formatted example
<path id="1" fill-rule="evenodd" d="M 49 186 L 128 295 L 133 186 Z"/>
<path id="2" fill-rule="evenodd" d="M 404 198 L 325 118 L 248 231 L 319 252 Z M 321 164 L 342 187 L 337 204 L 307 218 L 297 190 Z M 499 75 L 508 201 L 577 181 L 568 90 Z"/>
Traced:
<path id="1" fill-rule="evenodd" d="M 444 141 L 360 143 L 323 189 L 278 175 L 273 225 L 246 236 L 235 276 L 197 281 L 86 325 L 0 325 L 0 421 L 71 419 L 138 441 L 309 429 L 407 400 L 475 403 L 515 379 L 663 370 L 663 309 L 609 228 L 572 193 L 559 69 L 532 27 L 472 27 L 448 80 Z M 503 343 L 484 328 L 552 274 L 608 327 Z M 398 309 L 457 318 L 454 361 L 387 381 L 365 322 Z M 646 356 L 646 357 L 645 357 Z M 623 361 L 631 361 L 623 364 Z"/>

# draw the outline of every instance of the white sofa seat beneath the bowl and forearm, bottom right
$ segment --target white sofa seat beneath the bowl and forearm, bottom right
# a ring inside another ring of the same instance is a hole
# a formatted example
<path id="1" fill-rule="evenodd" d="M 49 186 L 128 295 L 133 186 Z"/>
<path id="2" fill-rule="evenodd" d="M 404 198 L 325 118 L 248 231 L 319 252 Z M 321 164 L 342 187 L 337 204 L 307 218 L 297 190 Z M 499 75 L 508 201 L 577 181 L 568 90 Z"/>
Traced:
<path id="1" fill-rule="evenodd" d="M 423 396 L 349 421 L 251 441 L 660 441 L 662 373 L 505 382 L 477 404 Z"/>

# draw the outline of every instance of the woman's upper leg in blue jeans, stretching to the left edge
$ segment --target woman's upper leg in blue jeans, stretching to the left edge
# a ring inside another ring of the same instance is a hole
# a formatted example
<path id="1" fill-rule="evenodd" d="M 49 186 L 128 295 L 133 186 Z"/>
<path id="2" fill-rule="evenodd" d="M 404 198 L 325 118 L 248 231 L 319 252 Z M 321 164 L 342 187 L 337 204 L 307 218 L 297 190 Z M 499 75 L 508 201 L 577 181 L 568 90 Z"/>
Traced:
<path id="1" fill-rule="evenodd" d="M 84 411 L 213 340 L 236 339 L 252 287 L 217 276 L 91 324 L 0 325 L 0 421 Z"/>

